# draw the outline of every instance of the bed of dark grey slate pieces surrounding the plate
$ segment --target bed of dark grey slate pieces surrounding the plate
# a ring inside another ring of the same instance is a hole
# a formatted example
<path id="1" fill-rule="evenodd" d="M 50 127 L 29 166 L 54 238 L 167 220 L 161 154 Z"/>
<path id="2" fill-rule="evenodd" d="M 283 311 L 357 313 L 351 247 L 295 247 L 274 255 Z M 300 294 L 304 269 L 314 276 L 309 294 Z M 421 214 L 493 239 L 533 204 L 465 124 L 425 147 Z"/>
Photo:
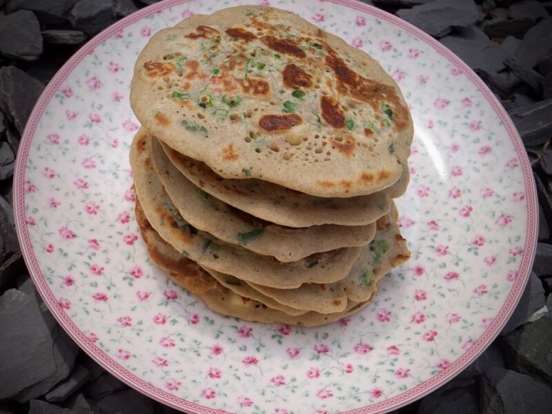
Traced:
<path id="1" fill-rule="evenodd" d="M 176 413 L 112 377 L 59 327 L 29 279 L 12 212 L 14 157 L 44 86 L 86 40 L 151 3 L 0 0 L 0 414 Z M 552 413 L 552 1 L 365 3 L 433 35 L 480 75 L 520 132 L 539 197 L 535 265 L 511 320 L 463 373 L 395 413 Z"/>

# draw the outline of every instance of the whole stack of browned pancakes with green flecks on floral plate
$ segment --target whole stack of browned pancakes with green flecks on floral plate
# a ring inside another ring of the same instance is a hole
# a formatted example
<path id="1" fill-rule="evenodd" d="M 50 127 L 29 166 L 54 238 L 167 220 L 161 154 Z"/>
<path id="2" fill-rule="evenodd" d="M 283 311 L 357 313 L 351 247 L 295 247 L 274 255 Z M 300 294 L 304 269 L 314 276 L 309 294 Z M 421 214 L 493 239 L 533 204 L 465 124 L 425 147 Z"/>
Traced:
<path id="1" fill-rule="evenodd" d="M 152 37 L 130 100 L 148 253 L 214 311 L 326 324 L 408 259 L 412 121 L 364 52 L 283 10 L 196 14 Z"/>

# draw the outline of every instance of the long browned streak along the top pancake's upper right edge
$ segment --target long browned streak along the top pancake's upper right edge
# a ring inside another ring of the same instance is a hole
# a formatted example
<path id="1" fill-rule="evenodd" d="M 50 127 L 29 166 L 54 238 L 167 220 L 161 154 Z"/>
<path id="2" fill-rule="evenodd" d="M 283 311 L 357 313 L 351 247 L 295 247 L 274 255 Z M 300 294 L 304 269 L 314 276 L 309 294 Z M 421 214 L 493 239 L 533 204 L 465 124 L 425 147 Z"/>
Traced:
<path id="1" fill-rule="evenodd" d="M 345 61 L 335 53 L 327 43 L 322 43 L 327 52 L 326 65 L 335 73 L 337 90 L 345 93 L 358 101 L 368 103 L 376 112 L 381 111 L 382 103 L 388 104 L 393 115 L 391 121 L 397 130 L 406 128 L 409 122 L 408 108 L 400 101 L 397 91 L 393 86 L 366 79 L 348 68 Z M 364 131 L 366 133 L 366 130 Z"/>

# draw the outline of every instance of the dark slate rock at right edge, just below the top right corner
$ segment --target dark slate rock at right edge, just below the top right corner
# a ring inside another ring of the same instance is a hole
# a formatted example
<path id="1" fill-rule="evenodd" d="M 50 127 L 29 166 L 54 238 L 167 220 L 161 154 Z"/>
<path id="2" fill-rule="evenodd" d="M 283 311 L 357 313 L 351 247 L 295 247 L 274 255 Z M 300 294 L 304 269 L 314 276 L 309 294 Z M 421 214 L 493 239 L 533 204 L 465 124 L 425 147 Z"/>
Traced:
<path id="1" fill-rule="evenodd" d="M 537 23 L 525 34 L 520 48 L 515 53 L 515 60 L 527 68 L 533 68 L 540 57 L 551 51 L 552 17 Z"/>

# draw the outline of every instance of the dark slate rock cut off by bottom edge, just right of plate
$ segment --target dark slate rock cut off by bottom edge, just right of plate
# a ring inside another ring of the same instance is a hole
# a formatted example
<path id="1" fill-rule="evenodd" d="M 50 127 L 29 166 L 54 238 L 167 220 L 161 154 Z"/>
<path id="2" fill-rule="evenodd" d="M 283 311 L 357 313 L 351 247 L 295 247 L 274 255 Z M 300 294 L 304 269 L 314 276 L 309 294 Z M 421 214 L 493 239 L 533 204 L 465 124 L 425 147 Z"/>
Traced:
<path id="1" fill-rule="evenodd" d="M 417 414 L 478 414 L 477 400 L 464 388 L 457 388 L 444 395 L 432 393 L 420 403 Z"/>

